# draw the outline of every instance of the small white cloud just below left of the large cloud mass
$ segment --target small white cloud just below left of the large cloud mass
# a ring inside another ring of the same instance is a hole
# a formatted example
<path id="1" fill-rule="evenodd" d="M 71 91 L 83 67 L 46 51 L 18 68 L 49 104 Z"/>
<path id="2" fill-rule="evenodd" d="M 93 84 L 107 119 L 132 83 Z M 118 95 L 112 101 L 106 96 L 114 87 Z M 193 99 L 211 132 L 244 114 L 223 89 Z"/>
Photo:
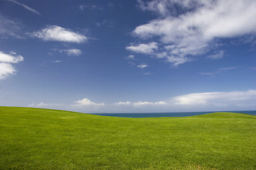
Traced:
<path id="1" fill-rule="evenodd" d="M 150 42 L 149 44 L 139 44 L 139 45 L 131 45 L 126 47 L 127 50 L 130 50 L 132 52 L 138 52 L 143 54 L 149 54 L 154 52 L 154 50 L 158 49 L 156 42 Z"/>

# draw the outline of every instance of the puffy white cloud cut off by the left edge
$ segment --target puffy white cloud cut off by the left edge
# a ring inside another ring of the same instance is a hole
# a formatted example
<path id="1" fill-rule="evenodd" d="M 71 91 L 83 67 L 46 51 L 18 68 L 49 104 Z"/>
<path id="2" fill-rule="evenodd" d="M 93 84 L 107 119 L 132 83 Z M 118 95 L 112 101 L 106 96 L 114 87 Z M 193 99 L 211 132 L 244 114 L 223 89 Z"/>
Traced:
<path id="1" fill-rule="evenodd" d="M 6 79 L 7 77 L 15 74 L 16 69 L 12 64 L 23 61 L 24 58 L 21 55 L 16 55 L 16 52 L 10 52 L 5 54 L 0 51 L 0 79 Z"/>

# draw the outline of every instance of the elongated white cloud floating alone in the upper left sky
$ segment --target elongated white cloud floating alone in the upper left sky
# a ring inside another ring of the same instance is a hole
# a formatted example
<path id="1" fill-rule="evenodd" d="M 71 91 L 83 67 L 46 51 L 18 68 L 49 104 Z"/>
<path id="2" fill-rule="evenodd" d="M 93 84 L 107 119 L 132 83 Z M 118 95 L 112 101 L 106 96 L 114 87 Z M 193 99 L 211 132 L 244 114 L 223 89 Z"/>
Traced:
<path id="1" fill-rule="evenodd" d="M 61 28 L 60 26 L 47 26 L 42 30 L 31 33 L 31 35 L 35 38 L 41 38 L 46 41 L 82 43 L 87 40 L 85 35 Z"/>

